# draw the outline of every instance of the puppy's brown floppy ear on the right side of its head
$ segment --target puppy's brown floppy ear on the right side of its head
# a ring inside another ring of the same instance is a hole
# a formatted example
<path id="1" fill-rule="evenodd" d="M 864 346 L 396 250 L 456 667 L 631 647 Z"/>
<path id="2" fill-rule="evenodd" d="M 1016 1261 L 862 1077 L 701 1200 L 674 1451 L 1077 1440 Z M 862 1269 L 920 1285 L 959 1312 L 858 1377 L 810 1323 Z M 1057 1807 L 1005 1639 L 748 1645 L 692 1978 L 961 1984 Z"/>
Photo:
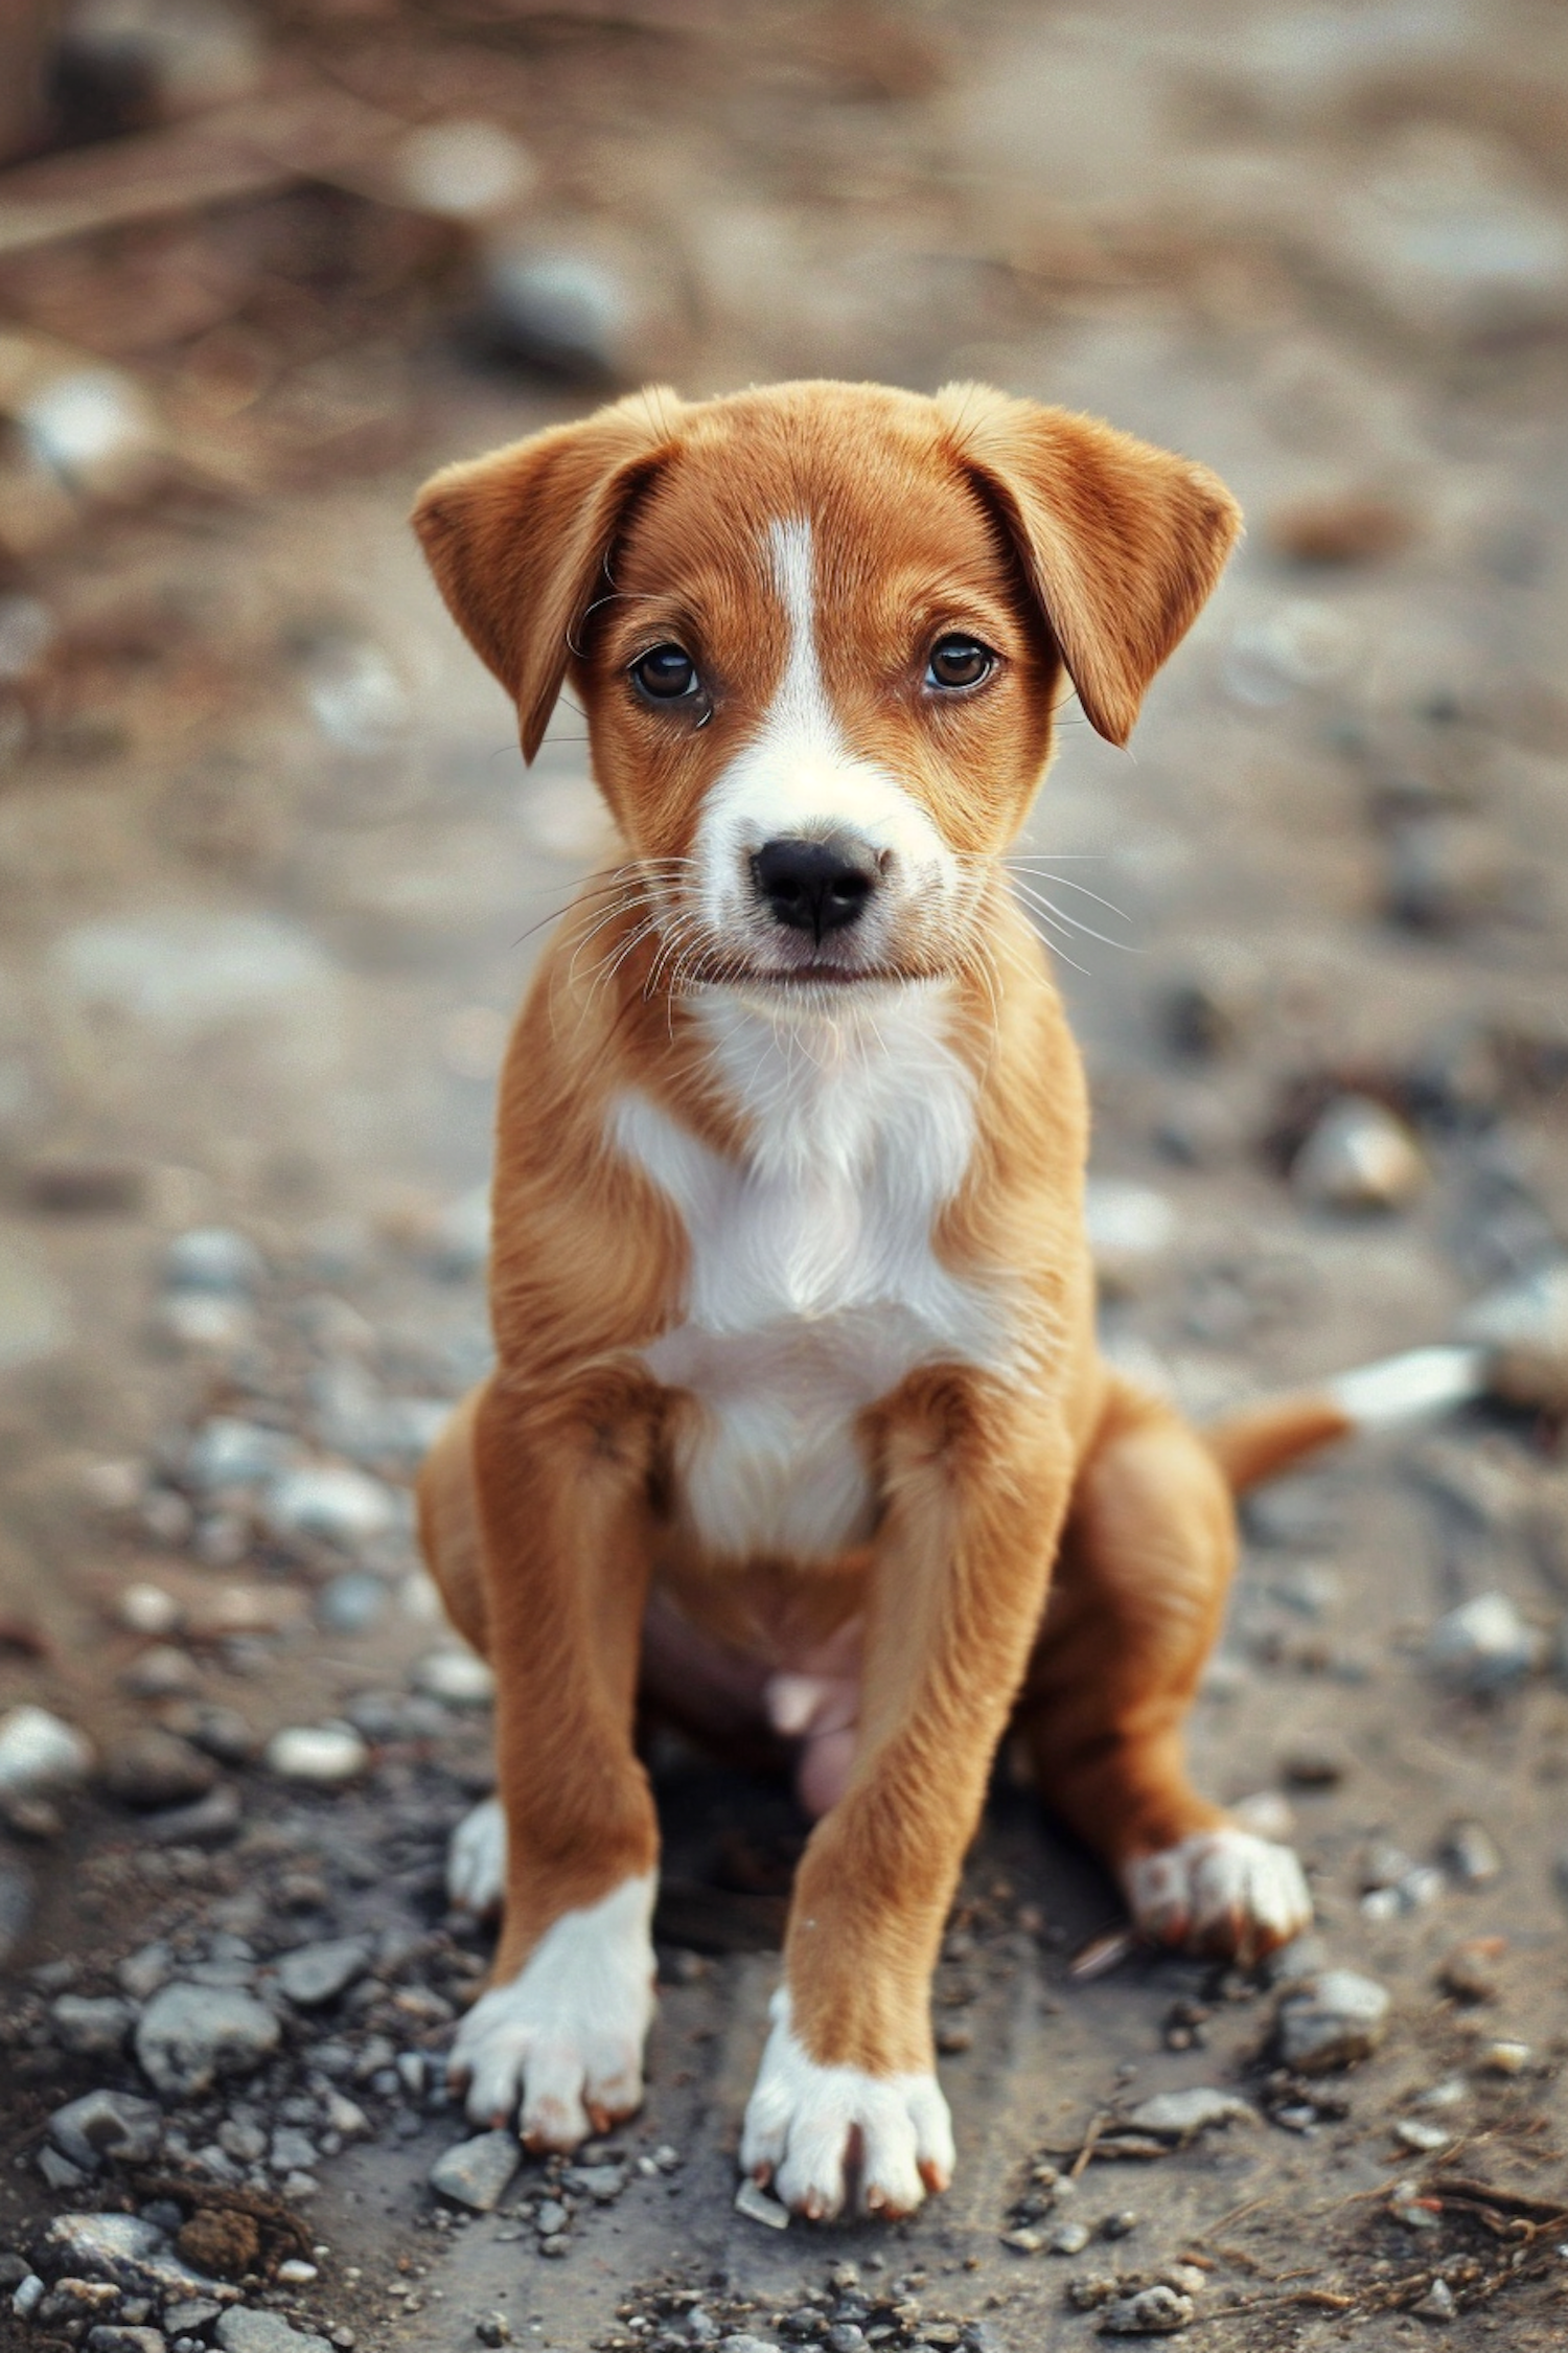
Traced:
<path id="1" fill-rule="evenodd" d="M 954 456 L 1018 551 L 1091 725 L 1126 744 L 1241 529 L 1204 466 L 985 384 L 936 395 Z"/>

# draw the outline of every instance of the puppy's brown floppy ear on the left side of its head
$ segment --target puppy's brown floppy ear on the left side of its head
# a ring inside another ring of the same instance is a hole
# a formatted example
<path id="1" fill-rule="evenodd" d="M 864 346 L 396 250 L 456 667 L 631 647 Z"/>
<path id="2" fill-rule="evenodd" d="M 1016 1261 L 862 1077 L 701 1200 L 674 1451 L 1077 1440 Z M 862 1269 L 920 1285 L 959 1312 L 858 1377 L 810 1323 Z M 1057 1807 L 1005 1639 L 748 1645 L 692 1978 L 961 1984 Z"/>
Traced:
<path id="1" fill-rule="evenodd" d="M 414 529 L 458 624 L 517 704 L 522 758 L 550 725 L 576 628 L 625 508 L 679 433 L 682 402 L 649 388 L 465 466 L 414 501 Z"/>

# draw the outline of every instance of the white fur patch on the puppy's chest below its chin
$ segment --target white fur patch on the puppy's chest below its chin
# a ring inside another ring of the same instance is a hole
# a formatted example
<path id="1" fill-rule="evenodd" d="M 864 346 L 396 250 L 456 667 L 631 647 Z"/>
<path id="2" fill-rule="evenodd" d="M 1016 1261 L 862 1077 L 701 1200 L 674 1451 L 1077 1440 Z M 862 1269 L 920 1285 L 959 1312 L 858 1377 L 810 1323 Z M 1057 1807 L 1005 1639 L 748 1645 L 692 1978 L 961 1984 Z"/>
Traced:
<path id="1" fill-rule="evenodd" d="M 611 1108 L 611 1144 L 675 1202 L 689 1242 L 682 1322 L 649 1369 L 703 1419 L 682 1506 L 726 1555 L 813 1558 L 870 1532 L 856 1417 L 924 1362 L 997 1362 L 994 1292 L 952 1275 L 933 1226 L 973 1151 L 973 1078 L 936 986 L 804 1021 L 705 1009 L 748 1122 L 743 1160 L 646 1096 Z"/>

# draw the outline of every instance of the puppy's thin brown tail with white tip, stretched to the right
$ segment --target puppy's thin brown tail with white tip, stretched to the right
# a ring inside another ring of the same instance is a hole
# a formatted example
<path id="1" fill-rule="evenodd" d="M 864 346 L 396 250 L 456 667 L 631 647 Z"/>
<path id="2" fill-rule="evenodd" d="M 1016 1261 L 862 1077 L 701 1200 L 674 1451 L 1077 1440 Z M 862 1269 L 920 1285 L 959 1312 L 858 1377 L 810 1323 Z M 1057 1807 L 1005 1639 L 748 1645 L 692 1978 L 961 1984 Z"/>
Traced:
<path id="1" fill-rule="evenodd" d="M 1469 1405 L 1486 1388 L 1486 1348 L 1410 1348 L 1356 1365 L 1321 1388 L 1248 1405 L 1201 1435 L 1234 1494 L 1361 1431 L 1396 1431 Z"/>

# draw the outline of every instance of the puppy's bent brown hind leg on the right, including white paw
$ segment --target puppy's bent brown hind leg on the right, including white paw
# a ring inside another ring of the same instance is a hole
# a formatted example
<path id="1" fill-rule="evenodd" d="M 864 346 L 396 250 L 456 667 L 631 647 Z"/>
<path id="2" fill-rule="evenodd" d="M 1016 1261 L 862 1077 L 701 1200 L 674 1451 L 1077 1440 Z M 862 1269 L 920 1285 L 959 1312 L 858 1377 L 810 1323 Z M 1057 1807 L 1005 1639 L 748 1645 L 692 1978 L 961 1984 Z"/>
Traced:
<path id="1" fill-rule="evenodd" d="M 1072 1515 L 1018 1729 L 1041 1798 L 1157 1944 L 1253 1960 L 1312 1918 L 1288 1847 L 1192 1788 L 1185 1720 L 1237 1558 L 1229 1489 L 1159 1400 L 1117 1384 Z"/>

